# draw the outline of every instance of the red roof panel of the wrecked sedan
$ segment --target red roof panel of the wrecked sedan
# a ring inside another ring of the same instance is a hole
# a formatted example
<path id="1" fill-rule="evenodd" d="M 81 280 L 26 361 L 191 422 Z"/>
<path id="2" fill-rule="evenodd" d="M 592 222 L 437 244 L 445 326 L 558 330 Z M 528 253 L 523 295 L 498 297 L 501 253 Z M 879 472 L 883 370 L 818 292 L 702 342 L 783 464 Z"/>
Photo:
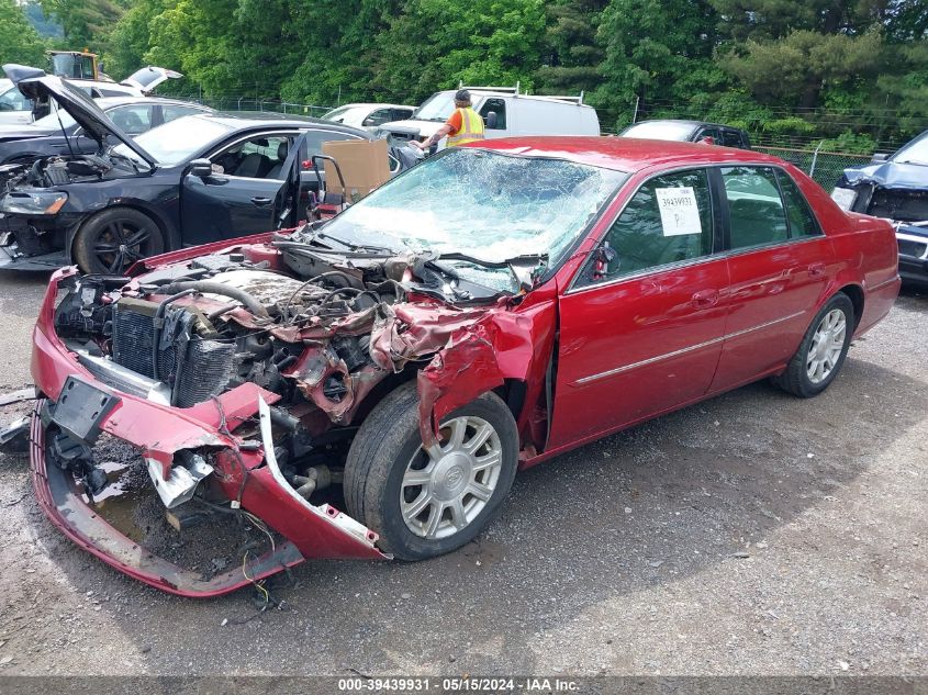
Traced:
<path id="1" fill-rule="evenodd" d="M 713 165 L 727 162 L 782 164 L 782 160 L 750 149 L 703 143 L 641 139 L 613 136 L 502 137 L 467 145 L 523 157 L 567 159 L 628 173 L 656 165 Z"/>

